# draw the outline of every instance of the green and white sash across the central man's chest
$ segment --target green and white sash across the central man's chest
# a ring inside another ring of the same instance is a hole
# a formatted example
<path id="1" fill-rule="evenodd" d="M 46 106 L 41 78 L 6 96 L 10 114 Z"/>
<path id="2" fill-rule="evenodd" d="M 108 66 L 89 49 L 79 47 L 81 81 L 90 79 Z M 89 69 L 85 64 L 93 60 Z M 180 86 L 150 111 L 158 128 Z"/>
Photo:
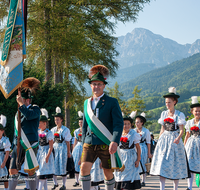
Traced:
<path id="1" fill-rule="evenodd" d="M 91 108 L 91 99 L 89 98 L 84 103 L 84 113 L 85 119 L 90 127 L 91 131 L 101 139 L 108 146 L 112 141 L 113 135 L 105 127 L 105 125 L 94 115 Z M 122 159 L 120 156 L 120 149 L 117 147 L 117 151 L 114 154 L 111 154 L 111 167 L 114 170 L 123 171 L 125 166 L 122 164 Z"/>

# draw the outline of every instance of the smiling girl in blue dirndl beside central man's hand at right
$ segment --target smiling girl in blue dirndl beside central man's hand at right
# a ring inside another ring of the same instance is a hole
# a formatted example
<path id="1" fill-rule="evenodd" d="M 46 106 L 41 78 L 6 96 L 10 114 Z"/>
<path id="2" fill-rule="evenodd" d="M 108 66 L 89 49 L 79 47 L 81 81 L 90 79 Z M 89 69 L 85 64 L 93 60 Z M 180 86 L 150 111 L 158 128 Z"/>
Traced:
<path id="1" fill-rule="evenodd" d="M 132 112 L 130 116 L 123 116 L 124 128 L 120 139 L 119 147 L 122 162 L 125 165 L 124 171 L 115 171 L 115 188 L 116 190 L 133 190 L 140 189 L 140 135 L 131 129 L 133 118 L 136 112 Z"/>

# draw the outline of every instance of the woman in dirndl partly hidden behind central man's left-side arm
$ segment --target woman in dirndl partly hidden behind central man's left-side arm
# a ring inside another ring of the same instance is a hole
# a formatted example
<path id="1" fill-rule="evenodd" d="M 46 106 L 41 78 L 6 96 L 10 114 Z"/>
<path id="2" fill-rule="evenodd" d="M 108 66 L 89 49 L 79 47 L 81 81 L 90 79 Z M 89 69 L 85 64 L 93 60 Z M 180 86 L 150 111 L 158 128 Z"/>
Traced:
<path id="1" fill-rule="evenodd" d="M 78 124 L 79 127 L 74 131 L 74 148 L 72 152 L 72 156 L 74 159 L 74 165 L 75 165 L 75 183 L 74 187 L 79 186 L 79 172 L 80 172 L 80 164 L 81 164 L 81 154 L 83 150 L 83 145 L 82 145 L 82 126 L 83 126 L 83 113 L 81 111 L 78 111 Z"/>

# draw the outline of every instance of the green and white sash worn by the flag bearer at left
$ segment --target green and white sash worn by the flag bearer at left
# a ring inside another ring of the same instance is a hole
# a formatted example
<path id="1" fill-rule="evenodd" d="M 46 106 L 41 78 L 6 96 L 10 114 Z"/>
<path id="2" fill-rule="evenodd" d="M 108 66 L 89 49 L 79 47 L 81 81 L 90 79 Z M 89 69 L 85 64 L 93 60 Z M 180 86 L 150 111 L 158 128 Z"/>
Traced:
<path id="1" fill-rule="evenodd" d="M 21 120 L 21 122 L 23 119 Z M 18 121 L 17 121 L 17 114 L 15 115 L 15 134 L 18 136 Z M 25 161 L 24 161 L 24 171 L 25 172 L 31 172 L 33 170 L 38 170 L 39 165 L 37 158 L 35 156 L 35 153 L 33 151 L 33 148 L 36 148 L 38 146 L 38 142 L 34 143 L 32 146 L 27 139 L 23 129 L 21 129 L 21 137 L 20 137 L 20 144 L 22 145 L 23 149 L 26 150 L 25 154 Z"/>

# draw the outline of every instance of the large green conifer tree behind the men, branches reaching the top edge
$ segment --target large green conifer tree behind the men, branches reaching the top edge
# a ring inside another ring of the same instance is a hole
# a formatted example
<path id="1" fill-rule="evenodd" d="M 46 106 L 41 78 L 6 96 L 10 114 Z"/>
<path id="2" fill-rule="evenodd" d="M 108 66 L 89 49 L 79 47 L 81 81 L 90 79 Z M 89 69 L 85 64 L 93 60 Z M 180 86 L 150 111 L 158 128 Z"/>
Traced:
<path id="1" fill-rule="evenodd" d="M 40 68 L 45 76 L 43 81 L 64 88 L 66 126 L 71 124 L 70 108 L 77 106 L 85 96 L 83 82 L 87 79 L 88 68 L 103 64 L 112 76 L 115 75 L 117 39 L 112 34 L 117 21 L 135 21 L 149 1 L 28 2 L 26 62 Z M 0 2 L 1 19 L 7 12 L 4 0 Z"/>

